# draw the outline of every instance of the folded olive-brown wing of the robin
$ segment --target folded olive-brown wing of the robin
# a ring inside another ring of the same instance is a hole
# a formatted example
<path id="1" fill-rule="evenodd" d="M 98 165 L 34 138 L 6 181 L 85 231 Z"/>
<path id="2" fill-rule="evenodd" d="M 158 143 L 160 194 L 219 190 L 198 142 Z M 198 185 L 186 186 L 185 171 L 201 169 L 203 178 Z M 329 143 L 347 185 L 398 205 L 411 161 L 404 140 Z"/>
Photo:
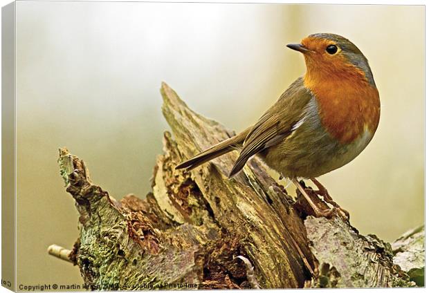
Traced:
<path id="1" fill-rule="evenodd" d="M 239 172 L 252 155 L 281 142 L 290 135 L 303 118 L 311 97 L 302 77 L 293 82 L 248 133 L 230 177 Z"/>

